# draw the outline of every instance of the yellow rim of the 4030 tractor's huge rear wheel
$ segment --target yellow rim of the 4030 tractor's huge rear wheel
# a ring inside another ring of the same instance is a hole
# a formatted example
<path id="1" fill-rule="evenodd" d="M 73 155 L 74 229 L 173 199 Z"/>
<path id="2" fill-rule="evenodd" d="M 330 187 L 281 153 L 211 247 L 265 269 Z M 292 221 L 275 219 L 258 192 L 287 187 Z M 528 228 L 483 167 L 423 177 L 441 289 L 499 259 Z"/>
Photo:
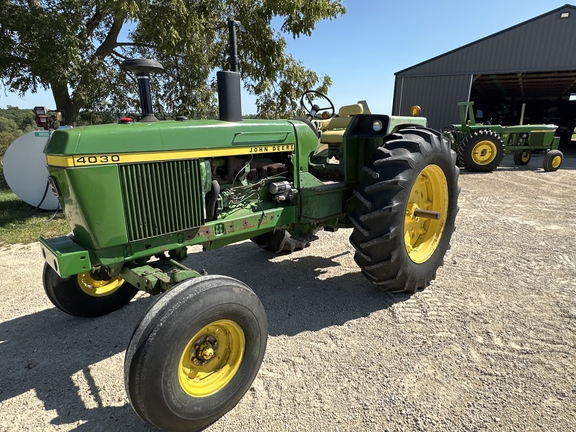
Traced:
<path id="1" fill-rule="evenodd" d="M 428 165 L 412 186 L 404 218 L 404 242 L 412 261 L 421 264 L 432 256 L 442 239 L 447 216 L 446 176 L 438 165 Z"/>

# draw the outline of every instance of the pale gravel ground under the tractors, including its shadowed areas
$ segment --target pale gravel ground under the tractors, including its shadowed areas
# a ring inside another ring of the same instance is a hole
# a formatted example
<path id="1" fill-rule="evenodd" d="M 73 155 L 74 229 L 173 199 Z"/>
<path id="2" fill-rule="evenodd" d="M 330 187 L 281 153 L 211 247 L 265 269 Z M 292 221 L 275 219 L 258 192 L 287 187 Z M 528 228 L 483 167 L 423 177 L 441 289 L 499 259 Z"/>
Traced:
<path id="1" fill-rule="evenodd" d="M 460 176 L 445 265 L 389 295 L 353 261 L 349 230 L 271 256 L 251 242 L 188 264 L 251 286 L 264 363 L 216 431 L 576 430 L 576 152 Z M 0 249 L 0 430 L 153 431 L 124 391 L 124 351 L 152 299 L 97 319 L 55 309 L 38 244 Z"/>

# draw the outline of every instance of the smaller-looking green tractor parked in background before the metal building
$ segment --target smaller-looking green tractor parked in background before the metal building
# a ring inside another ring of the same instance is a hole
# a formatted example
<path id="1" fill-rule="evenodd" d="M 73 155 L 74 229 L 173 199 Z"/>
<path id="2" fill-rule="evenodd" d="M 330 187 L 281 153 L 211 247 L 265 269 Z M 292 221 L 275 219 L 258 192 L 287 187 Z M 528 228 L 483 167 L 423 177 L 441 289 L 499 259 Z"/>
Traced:
<path id="1" fill-rule="evenodd" d="M 564 156 L 558 150 L 559 137 L 554 136 L 556 125 L 477 124 L 473 105 L 474 102 L 460 102 L 460 124 L 443 129 L 458 154 L 459 166 L 489 172 L 500 165 L 505 154 L 514 153 L 516 165 L 527 165 L 533 153 L 541 153 L 545 171 L 560 168 Z"/>

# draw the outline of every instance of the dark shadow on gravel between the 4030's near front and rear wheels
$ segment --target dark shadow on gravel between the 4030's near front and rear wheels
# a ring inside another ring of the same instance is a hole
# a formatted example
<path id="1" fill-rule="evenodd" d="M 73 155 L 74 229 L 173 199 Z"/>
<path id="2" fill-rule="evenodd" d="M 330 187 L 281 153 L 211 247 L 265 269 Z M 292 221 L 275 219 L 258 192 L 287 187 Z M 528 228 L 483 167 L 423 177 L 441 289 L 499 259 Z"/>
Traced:
<path id="1" fill-rule="evenodd" d="M 186 265 L 205 269 L 208 274 L 231 276 L 252 288 L 266 309 L 271 336 L 342 325 L 409 298 L 380 291 L 358 267 L 320 279 L 329 267 L 340 266 L 336 258 L 349 252 L 335 251 L 333 257 L 326 258 L 314 256 L 314 249 L 312 243 L 303 252 L 273 262 L 274 254 L 248 241 L 192 254 Z"/>

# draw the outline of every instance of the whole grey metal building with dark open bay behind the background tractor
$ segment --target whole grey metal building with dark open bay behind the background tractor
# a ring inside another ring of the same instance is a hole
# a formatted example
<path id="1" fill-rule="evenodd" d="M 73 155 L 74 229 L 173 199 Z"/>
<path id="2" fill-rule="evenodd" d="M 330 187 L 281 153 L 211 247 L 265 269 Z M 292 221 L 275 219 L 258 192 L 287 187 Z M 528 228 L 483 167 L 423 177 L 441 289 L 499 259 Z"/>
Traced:
<path id="1" fill-rule="evenodd" d="M 392 113 L 419 105 L 428 124 L 459 122 L 458 102 L 503 125 L 576 120 L 576 6 L 565 5 L 396 72 Z M 478 118 L 478 117 L 477 117 Z"/>

